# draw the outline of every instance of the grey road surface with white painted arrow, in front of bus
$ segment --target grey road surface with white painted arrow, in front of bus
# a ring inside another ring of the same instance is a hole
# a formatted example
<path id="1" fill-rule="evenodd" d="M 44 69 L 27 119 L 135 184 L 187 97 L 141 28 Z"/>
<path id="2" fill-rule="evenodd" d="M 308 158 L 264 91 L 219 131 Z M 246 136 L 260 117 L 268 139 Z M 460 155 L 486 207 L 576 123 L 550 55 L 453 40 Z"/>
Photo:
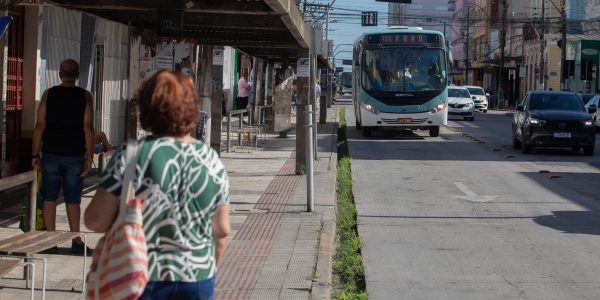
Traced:
<path id="1" fill-rule="evenodd" d="M 506 111 L 363 138 L 345 101 L 370 299 L 600 299 L 600 145 L 522 154 Z"/>

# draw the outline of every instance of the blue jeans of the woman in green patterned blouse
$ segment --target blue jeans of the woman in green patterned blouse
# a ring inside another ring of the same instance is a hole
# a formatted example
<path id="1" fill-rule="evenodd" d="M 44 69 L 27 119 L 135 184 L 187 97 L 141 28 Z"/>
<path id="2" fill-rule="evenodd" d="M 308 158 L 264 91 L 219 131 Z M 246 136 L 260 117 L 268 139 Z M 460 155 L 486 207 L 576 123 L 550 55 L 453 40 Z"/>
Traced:
<path id="1" fill-rule="evenodd" d="M 150 281 L 139 299 L 215 299 L 215 277 L 196 282 Z"/>

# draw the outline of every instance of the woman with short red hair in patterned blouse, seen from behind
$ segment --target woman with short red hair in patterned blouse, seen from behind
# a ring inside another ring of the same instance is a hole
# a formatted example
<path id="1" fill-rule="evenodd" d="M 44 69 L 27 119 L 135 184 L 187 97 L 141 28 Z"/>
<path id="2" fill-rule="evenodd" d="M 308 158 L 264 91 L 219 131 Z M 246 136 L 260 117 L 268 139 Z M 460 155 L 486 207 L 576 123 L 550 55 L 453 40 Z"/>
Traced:
<path id="1" fill-rule="evenodd" d="M 230 234 L 229 179 L 218 154 L 191 137 L 198 121 L 192 80 L 154 74 L 137 93 L 142 128 L 133 188 L 143 200 L 148 284 L 140 299 L 212 299 Z M 84 220 L 106 232 L 119 210 L 127 145 L 113 154 Z"/>

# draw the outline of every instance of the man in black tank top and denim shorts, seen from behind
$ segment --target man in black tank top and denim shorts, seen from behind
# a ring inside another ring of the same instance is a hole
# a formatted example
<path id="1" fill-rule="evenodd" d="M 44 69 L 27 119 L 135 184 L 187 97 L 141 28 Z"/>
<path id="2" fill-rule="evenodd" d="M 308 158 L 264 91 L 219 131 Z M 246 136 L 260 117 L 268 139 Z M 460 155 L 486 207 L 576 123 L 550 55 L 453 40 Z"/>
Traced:
<path id="1" fill-rule="evenodd" d="M 35 169 L 41 162 L 46 229 L 56 228 L 56 201 L 62 186 L 69 227 L 79 232 L 83 177 L 90 171 L 94 151 L 92 94 L 75 86 L 79 78 L 75 60 L 63 61 L 59 74 L 62 84 L 46 90 L 40 101 L 31 164 Z M 83 247 L 77 238 L 71 250 L 83 253 Z"/>

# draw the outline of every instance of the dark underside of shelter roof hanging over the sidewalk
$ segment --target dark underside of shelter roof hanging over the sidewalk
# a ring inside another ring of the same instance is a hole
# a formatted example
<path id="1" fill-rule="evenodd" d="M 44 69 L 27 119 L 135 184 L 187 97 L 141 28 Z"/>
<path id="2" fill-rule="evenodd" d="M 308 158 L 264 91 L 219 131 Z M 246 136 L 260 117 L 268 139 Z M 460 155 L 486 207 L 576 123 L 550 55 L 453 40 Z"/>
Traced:
<path id="1" fill-rule="evenodd" d="M 310 30 L 294 0 L 53 0 L 158 38 L 231 46 L 256 57 L 294 59 Z"/>

